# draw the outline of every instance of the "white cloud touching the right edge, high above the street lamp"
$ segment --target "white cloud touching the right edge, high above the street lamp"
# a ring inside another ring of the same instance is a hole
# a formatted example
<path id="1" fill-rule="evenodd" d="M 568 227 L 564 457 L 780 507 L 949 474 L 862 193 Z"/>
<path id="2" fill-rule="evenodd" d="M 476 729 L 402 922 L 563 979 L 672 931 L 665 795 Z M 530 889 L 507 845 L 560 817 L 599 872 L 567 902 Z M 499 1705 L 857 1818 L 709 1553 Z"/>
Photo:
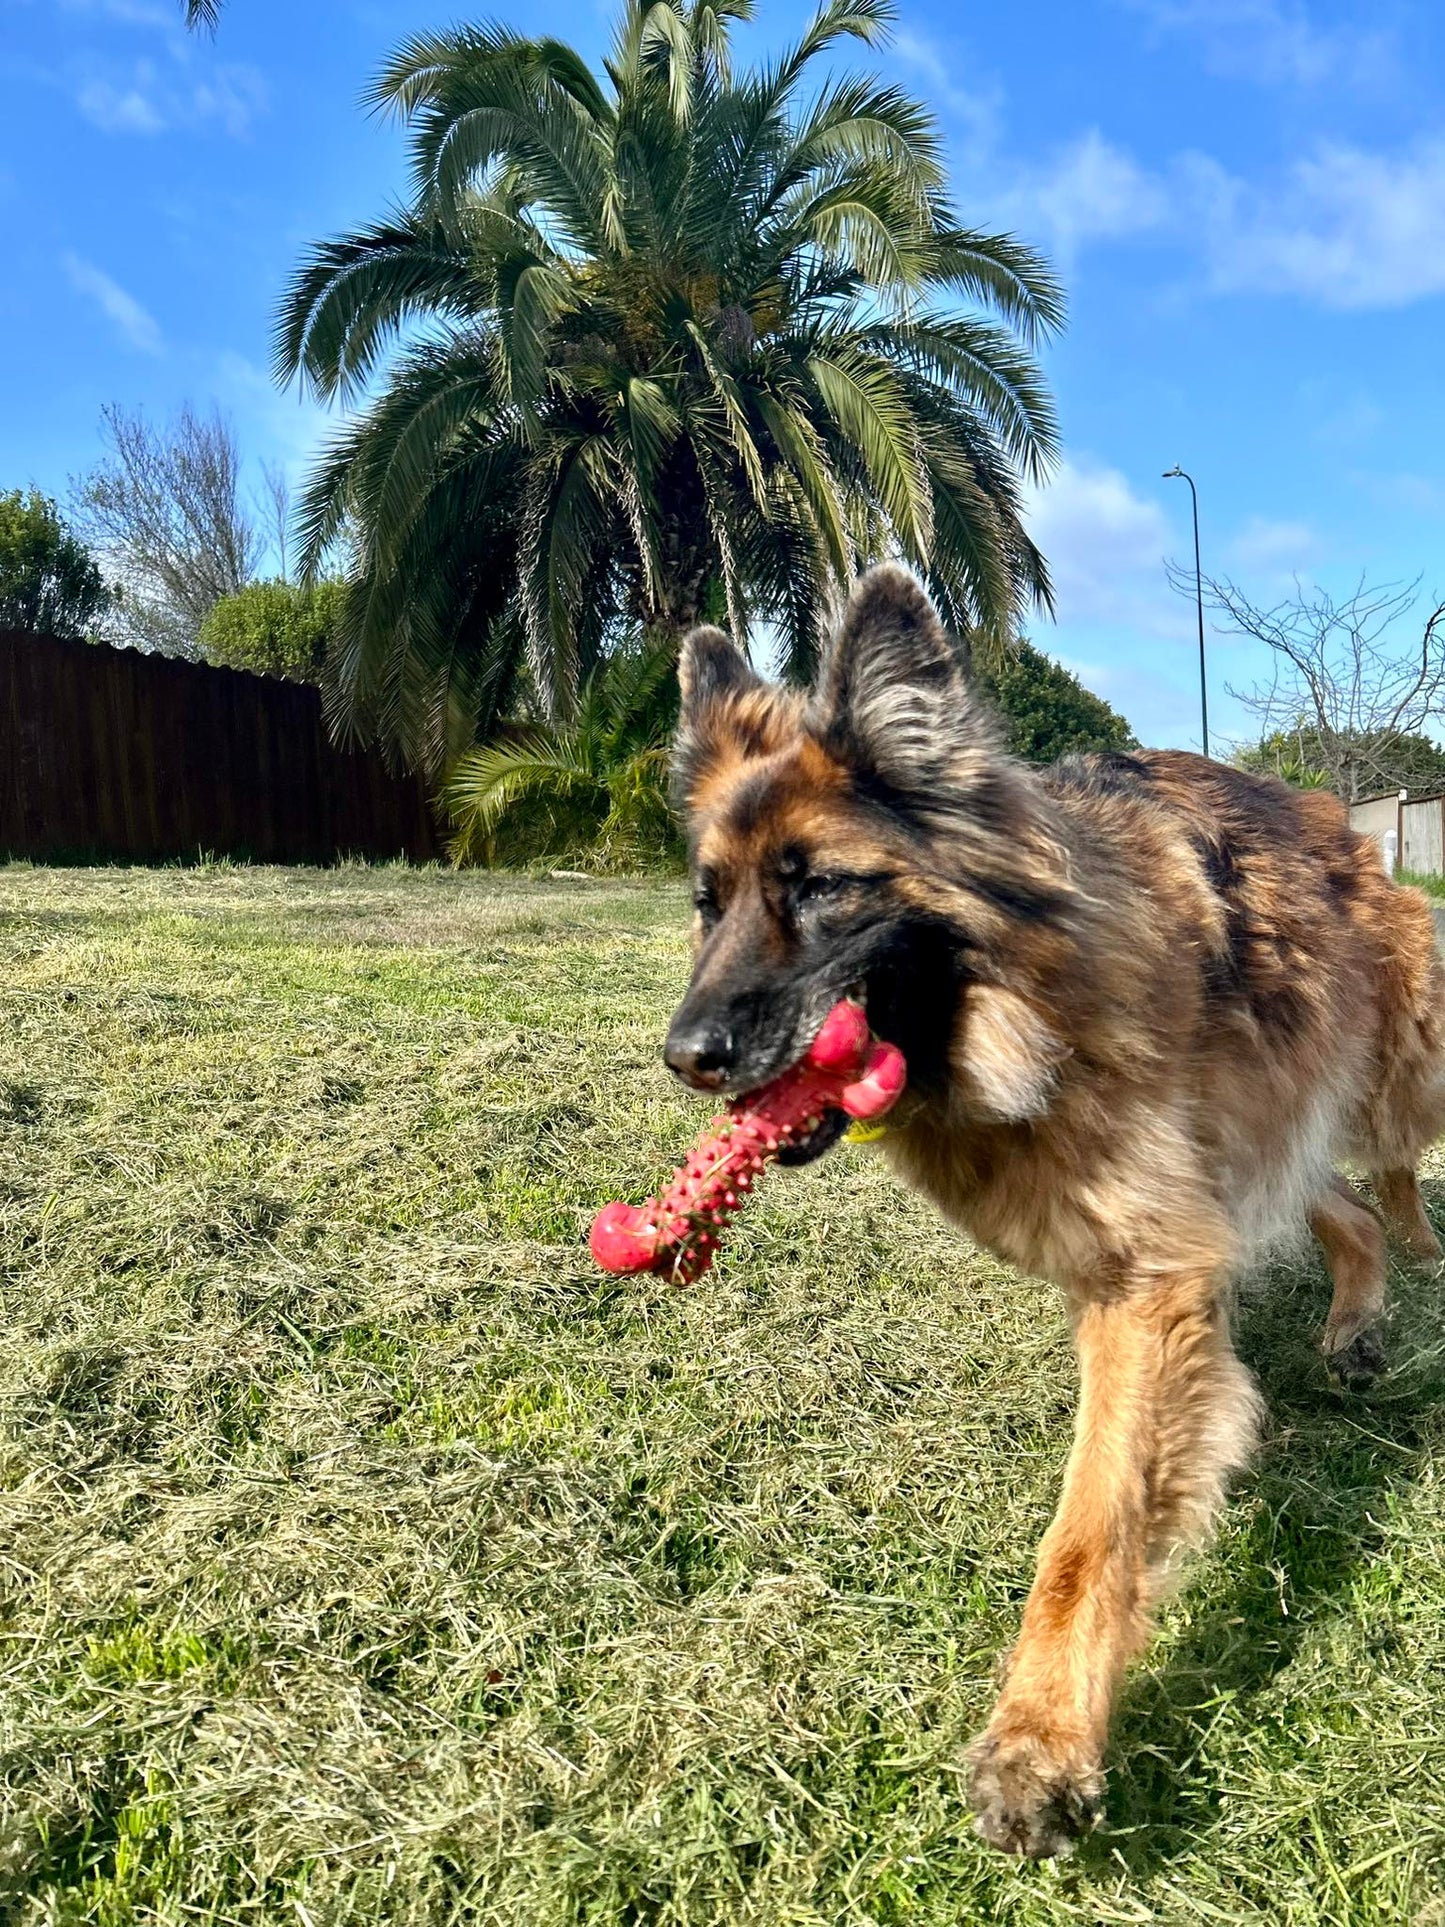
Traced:
<path id="1" fill-rule="evenodd" d="M 1274 195 L 1195 160 L 1214 283 L 1395 308 L 1445 293 L 1445 141 L 1397 154 L 1322 146 Z"/>

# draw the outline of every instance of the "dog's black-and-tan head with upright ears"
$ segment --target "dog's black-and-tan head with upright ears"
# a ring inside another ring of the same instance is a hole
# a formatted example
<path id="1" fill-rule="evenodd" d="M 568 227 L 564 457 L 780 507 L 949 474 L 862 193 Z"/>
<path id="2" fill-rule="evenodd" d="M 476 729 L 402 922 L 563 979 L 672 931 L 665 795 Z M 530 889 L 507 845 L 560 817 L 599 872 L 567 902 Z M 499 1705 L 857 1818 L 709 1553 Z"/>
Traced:
<path id="1" fill-rule="evenodd" d="M 669 1066 L 751 1091 L 854 994 L 913 1089 L 944 1075 L 969 952 L 1052 884 L 1013 858 L 1027 779 L 923 588 L 896 567 L 863 576 L 807 698 L 717 628 L 688 636 L 680 676 L 696 965 Z"/>

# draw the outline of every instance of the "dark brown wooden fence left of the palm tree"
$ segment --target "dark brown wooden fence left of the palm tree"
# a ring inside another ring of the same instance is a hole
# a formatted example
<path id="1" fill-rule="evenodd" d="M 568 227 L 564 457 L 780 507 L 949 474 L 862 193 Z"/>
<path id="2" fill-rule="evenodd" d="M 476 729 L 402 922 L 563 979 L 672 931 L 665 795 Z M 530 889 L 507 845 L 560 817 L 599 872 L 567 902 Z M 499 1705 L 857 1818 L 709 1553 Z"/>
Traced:
<path id="1" fill-rule="evenodd" d="M 426 861 L 416 779 L 335 748 L 316 690 L 139 649 L 0 632 L 0 856 Z"/>

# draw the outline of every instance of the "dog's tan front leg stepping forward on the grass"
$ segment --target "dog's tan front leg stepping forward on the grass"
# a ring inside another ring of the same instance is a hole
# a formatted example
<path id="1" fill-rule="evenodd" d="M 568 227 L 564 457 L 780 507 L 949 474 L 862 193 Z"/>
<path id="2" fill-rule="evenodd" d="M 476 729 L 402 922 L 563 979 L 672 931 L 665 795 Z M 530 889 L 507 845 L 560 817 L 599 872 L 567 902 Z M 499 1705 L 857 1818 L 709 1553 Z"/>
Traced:
<path id="1" fill-rule="evenodd" d="M 973 1748 L 979 1833 L 1064 1852 L 1092 1827 L 1119 1673 L 1169 1551 L 1196 1534 L 1254 1434 L 1222 1280 L 1154 1276 L 1075 1316 L 1079 1416 L 1008 1684 Z"/>

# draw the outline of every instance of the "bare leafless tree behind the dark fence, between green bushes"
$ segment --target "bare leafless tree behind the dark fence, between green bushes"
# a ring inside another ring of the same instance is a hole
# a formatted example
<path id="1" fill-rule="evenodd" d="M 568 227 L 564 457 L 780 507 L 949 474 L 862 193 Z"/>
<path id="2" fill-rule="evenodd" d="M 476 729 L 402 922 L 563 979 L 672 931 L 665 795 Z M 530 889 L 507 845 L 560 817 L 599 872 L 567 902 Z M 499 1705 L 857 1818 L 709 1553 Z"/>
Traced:
<path id="1" fill-rule="evenodd" d="M 241 451 L 220 412 L 189 405 L 164 428 L 114 403 L 106 457 L 71 484 L 75 516 L 121 595 L 127 642 L 195 655 L 200 622 L 243 588 L 262 538 L 241 501 Z"/>

